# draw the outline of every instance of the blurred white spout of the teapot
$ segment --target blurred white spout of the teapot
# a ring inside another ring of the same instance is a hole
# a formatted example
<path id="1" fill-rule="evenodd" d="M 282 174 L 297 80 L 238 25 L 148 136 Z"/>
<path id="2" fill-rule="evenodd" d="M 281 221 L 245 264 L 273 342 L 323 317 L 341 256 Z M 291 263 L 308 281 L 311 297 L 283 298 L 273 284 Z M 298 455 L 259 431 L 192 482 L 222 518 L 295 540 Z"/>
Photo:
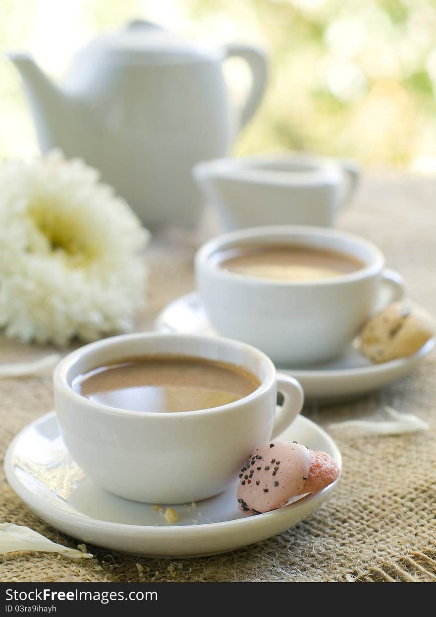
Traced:
<path id="1" fill-rule="evenodd" d="M 43 152 L 47 152 L 53 146 L 54 134 L 58 132 L 57 128 L 63 121 L 66 97 L 29 54 L 8 52 L 7 56 L 22 77 L 33 112 L 39 145 Z"/>

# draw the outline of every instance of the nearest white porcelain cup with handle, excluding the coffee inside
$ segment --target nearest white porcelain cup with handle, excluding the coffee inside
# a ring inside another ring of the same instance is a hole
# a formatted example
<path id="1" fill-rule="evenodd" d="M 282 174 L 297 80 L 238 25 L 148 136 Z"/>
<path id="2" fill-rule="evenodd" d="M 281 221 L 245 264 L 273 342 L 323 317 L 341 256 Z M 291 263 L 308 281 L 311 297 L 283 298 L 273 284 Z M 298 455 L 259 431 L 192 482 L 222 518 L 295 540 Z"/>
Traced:
<path id="1" fill-rule="evenodd" d="M 87 399 L 71 387 L 87 371 L 122 358 L 176 354 L 243 366 L 260 386 L 243 399 L 207 410 L 132 412 Z M 276 412 L 277 390 L 284 396 Z M 246 458 L 301 411 L 300 384 L 276 375 L 271 360 L 237 341 L 139 333 L 81 347 L 54 373 L 57 419 L 65 445 L 89 478 L 107 491 L 145 503 L 184 503 L 217 495 Z"/>

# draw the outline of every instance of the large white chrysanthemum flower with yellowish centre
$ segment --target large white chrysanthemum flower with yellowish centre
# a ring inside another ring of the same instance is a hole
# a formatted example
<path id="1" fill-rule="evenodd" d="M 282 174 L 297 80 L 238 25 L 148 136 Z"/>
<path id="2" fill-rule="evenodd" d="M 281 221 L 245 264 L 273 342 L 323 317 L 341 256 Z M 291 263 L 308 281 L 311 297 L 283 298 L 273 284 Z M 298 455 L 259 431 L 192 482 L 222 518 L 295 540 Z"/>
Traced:
<path id="1" fill-rule="evenodd" d="M 59 151 L 0 172 L 0 326 L 66 344 L 132 328 L 149 234 L 83 161 Z"/>

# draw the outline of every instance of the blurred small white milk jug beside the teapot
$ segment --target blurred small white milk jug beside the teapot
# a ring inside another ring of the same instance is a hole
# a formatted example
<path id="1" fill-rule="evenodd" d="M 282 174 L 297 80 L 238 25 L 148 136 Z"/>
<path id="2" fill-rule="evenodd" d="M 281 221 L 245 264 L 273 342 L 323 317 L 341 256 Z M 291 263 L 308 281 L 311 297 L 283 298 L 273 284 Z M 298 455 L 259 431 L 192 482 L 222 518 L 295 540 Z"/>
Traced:
<path id="1" fill-rule="evenodd" d="M 358 181 L 357 163 L 308 154 L 203 161 L 193 176 L 225 230 L 334 225 Z"/>

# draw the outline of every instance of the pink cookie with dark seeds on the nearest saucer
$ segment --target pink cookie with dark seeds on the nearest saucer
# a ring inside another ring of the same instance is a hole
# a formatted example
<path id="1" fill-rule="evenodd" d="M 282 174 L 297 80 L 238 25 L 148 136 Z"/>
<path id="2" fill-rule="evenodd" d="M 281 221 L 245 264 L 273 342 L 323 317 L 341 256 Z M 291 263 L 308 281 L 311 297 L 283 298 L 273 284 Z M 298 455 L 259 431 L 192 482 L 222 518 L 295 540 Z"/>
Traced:
<path id="1" fill-rule="evenodd" d="M 238 507 L 249 514 L 277 510 L 293 497 L 320 491 L 338 476 L 338 466 L 325 452 L 272 441 L 258 448 L 241 469 Z"/>

